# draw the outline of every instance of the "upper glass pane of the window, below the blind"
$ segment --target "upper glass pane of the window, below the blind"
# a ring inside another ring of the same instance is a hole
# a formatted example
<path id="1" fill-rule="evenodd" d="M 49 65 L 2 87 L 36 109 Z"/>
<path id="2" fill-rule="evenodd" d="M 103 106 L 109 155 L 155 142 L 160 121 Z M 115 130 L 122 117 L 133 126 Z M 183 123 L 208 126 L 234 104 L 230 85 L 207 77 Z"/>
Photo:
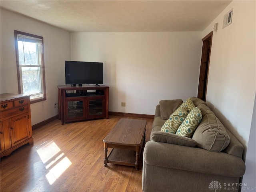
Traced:
<path id="1" fill-rule="evenodd" d="M 37 43 L 18 41 L 20 65 L 39 65 L 36 46 Z"/>

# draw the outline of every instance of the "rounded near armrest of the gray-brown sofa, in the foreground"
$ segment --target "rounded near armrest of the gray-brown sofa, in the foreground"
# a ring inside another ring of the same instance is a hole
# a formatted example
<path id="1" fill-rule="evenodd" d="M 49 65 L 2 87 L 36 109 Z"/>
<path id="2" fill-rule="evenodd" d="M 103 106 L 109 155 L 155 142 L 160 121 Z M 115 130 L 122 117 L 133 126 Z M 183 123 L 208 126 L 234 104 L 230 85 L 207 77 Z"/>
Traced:
<path id="1" fill-rule="evenodd" d="M 229 177 L 242 177 L 245 172 L 245 164 L 237 156 L 154 141 L 146 142 L 144 161 L 153 166 Z"/>

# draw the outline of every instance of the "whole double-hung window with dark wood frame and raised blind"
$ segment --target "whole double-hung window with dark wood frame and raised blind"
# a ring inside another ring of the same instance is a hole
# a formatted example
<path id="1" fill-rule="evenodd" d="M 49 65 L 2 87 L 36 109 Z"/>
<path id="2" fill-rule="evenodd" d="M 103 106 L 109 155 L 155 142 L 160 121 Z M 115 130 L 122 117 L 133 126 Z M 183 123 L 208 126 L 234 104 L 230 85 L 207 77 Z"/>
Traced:
<path id="1" fill-rule="evenodd" d="M 14 30 L 19 93 L 46 100 L 43 37 Z"/>

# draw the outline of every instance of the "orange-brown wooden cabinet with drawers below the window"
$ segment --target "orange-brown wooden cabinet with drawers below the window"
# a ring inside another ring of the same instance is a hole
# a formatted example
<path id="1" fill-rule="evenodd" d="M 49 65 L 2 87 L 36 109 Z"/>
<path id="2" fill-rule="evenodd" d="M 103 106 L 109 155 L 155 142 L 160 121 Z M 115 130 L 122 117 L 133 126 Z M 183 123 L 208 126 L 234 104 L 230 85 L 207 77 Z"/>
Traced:
<path id="1" fill-rule="evenodd" d="M 24 144 L 33 144 L 30 99 L 23 94 L 1 94 L 1 157 Z"/>

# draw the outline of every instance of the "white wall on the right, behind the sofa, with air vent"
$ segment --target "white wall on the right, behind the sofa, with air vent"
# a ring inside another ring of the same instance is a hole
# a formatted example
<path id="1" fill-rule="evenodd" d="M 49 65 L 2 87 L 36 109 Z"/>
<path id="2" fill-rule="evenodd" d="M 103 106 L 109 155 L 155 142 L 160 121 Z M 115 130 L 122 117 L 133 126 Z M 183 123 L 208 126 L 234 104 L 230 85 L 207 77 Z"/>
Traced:
<path id="1" fill-rule="evenodd" d="M 232 8 L 232 24 L 222 29 L 224 14 Z M 206 100 L 221 122 L 246 147 L 256 90 L 255 1 L 232 1 L 203 31 L 203 37 L 217 22 Z"/>

